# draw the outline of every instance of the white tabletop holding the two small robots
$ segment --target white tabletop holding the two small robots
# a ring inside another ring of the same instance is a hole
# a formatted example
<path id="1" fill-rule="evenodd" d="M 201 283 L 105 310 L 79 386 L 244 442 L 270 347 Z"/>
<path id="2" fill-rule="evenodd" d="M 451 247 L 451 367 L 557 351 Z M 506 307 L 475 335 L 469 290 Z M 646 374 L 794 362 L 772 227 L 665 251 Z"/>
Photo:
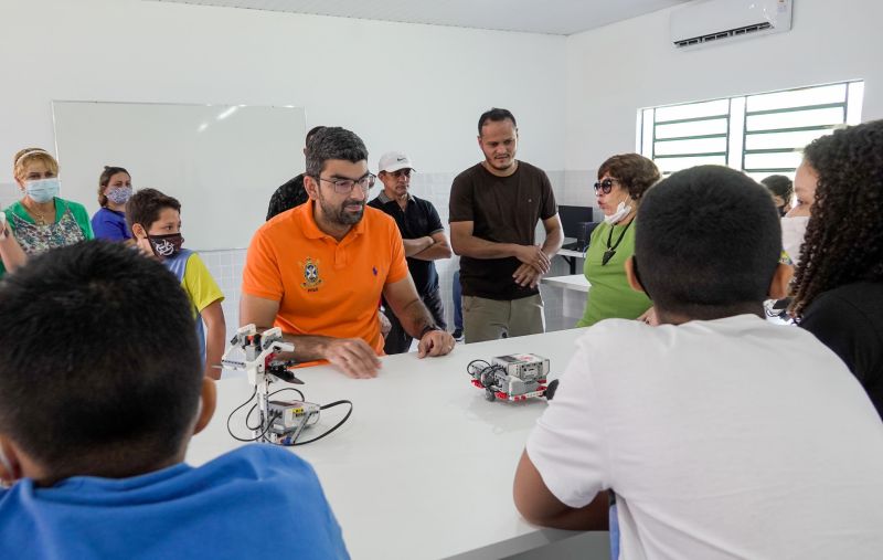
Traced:
<path id="1" fill-rule="evenodd" d="M 316 468 L 352 557 L 499 558 L 578 536 L 540 530 L 512 503 L 515 465 L 545 400 L 488 402 L 470 384 L 466 366 L 476 358 L 533 352 L 550 359 L 550 378 L 555 378 L 582 330 L 458 345 L 442 358 L 390 356 L 380 376 L 369 380 L 349 379 L 330 366 L 299 370 L 308 401 L 354 403 L 340 430 L 296 448 Z M 283 387 L 288 385 L 278 382 L 272 389 Z M 193 437 L 190 464 L 242 445 L 227 434 L 226 420 L 252 389 L 244 378 L 220 381 L 217 389 L 215 416 Z M 279 397 L 287 394 L 294 393 Z M 304 437 L 333 425 L 345 409 L 323 411 Z M 251 436 L 242 412 L 232 426 L 237 435 Z"/>

